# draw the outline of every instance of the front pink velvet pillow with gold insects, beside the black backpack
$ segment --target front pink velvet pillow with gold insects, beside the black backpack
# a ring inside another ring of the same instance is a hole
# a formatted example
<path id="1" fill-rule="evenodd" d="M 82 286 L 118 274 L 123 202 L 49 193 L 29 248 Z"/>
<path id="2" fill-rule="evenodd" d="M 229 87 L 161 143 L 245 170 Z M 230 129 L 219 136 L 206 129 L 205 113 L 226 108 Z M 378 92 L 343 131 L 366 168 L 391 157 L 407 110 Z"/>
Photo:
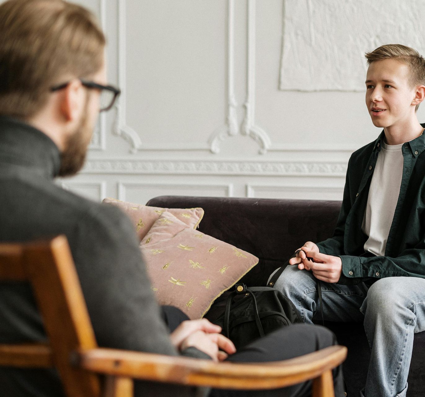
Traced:
<path id="1" fill-rule="evenodd" d="M 258 258 L 193 230 L 169 212 L 161 214 L 140 243 L 162 305 L 201 318 L 223 292 L 252 269 Z"/>

